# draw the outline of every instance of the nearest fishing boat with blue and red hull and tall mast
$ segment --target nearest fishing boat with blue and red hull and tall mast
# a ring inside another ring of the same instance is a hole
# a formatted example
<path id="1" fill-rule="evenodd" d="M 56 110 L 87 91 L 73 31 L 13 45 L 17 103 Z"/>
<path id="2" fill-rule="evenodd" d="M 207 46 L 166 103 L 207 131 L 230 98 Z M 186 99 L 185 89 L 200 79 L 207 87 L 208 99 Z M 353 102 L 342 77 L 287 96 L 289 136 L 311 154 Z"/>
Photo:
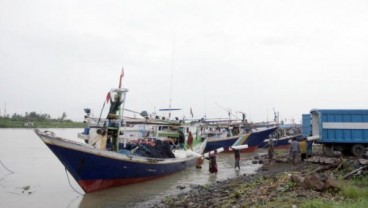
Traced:
<path id="1" fill-rule="evenodd" d="M 108 94 L 110 109 L 106 119 L 90 119 L 88 132 L 85 132 L 87 143 L 35 129 L 86 193 L 157 179 L 194 167 L 206 146 L 205 140 L 192 150 L 171 150 L 165 141 L 155 139 L 139 140 L 135 144 L 125 141 L 120 145 L 128 92 L 121 87 L 121 79 L 122 75 L 119 88 Z"/>

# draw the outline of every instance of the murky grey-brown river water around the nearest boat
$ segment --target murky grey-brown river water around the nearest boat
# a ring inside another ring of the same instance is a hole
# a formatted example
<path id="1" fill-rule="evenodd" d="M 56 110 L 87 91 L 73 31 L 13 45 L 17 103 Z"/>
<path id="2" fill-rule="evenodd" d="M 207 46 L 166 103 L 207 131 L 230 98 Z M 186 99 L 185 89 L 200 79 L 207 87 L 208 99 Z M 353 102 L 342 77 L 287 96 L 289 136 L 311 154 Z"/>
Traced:
<path id="1" fill-rule="evenodd" d="M 48 129 L 57 136 L 76 139 L 82 129 Z M 150 207 L 163 197 L 243 174 L 255 173 L 255 153 L 241 154 L 241 170 L 234 169 L 233 154 L 219 154 L 219 172 L 188 168 L 157 180 L 84 194 L 64 166 L 32 129 L 0 129 L 0 207 Z M 12 172 L 14 173 L 12 173 Z M 181 189 L 179 187 L 185 187 Z"/>

